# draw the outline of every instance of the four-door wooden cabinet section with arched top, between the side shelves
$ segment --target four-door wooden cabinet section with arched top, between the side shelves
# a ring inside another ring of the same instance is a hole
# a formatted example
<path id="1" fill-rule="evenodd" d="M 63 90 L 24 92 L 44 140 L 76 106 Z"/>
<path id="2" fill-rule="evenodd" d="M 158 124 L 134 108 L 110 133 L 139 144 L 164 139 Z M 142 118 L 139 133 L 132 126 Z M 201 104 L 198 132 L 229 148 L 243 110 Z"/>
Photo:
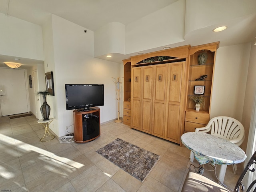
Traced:
<path id="1" fill-rule="evenodd" d="M 131 128 L 180 143 L 189 48 L 131 57 Z"/>

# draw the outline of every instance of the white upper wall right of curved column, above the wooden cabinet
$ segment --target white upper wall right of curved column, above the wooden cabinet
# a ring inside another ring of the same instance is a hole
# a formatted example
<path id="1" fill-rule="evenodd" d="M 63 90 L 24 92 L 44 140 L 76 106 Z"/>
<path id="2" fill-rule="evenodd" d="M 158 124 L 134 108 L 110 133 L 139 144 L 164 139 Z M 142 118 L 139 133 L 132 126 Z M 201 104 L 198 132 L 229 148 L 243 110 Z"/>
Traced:
<path id="1" fill-rule="evenodd" d="M 184 41 L 185 0 L 126 26 L 126 54 Z"/>

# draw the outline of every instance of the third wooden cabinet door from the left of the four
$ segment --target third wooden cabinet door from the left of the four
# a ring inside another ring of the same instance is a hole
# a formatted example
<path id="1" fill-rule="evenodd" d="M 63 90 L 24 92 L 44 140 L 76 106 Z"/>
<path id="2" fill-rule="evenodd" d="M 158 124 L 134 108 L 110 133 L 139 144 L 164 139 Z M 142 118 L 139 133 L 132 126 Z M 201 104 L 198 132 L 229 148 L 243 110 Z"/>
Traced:
<path id="1" fill-rule="evenodd" d="M 166 84 L 168 65 L 160 64 L 154 68 L 154 96 L 153 96 L 153 128 L 152 134 L 164 137 Z"/>

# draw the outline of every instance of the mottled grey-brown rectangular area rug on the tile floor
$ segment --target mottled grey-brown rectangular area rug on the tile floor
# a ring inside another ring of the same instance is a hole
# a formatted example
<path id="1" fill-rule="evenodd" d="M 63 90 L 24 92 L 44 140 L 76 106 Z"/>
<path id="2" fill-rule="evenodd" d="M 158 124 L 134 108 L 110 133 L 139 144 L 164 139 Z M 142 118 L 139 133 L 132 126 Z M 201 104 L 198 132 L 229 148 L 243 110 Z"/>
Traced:
<path id="1" fill-rule="evenodd" d="M 119 138 L 96 152 L 141 182 L 160 158 L 159 155 Z"/>

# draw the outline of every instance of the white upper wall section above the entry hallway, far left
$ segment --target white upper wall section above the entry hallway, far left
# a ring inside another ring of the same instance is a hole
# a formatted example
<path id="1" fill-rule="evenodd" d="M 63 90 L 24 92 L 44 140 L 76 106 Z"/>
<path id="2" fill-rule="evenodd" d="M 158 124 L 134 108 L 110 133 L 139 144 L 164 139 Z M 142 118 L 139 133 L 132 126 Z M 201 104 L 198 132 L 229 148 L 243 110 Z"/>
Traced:
<path id="1" fill-rule="evenodd" d="M 0 54 L 44 60 L 42 28 L 0 13 Z"/>

